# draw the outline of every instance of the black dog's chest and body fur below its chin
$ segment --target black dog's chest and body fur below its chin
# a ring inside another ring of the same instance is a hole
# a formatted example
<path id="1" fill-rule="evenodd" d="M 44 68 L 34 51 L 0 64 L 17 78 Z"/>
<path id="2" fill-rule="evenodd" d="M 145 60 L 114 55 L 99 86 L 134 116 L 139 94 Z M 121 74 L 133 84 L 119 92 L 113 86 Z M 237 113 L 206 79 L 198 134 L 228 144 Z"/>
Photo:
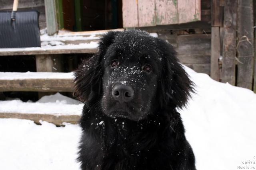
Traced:
<path id="1" fill-rule="evenodd" d="M 86 122 L 81 125 L 86 139 L 82 139 L 79 158 L 87 162 L 84 170 L 179 169 L 190 153 L 184 147 L 179 115 L 172 115 L 134 122 L 100 113 L 84 114 Z"/>

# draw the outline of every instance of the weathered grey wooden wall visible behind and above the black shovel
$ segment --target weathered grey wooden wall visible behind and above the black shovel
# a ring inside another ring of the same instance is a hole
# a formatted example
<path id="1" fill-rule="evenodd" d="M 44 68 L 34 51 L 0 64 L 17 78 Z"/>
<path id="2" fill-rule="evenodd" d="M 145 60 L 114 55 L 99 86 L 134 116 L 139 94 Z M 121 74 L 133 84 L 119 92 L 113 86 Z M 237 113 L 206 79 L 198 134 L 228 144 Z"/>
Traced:
<path id="1" fill-rule="evenodd" d="M 0 11 L 12 10 L 13 0 L 0 0 Z M 19 0 L 18 10 L 37 10 L 40 12 L 39 27 L 46 27 L 44 0 Z"/>

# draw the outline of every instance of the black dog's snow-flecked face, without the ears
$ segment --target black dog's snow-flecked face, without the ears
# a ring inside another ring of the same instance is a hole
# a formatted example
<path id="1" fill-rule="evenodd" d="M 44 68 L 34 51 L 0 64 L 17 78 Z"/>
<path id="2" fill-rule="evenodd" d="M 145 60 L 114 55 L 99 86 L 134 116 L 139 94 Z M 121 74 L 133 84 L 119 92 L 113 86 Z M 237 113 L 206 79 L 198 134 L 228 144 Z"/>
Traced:
<path id="1" fill-rule="evenodd" d="M 122 35 L 108 47 L 102 60 L 101 103 L 106 115 L 139 120 L 150 113 L 162 69 L 153 39 Z"/>

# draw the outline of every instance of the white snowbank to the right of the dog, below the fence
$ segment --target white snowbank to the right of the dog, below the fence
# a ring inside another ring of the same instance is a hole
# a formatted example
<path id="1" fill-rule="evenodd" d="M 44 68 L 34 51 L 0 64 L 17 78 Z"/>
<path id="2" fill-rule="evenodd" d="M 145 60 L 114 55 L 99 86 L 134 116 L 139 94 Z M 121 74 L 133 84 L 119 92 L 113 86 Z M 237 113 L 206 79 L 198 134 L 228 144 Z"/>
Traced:
<path id="1" fill-rule="evenodd" d="M 198 170 L 234 170 L 246 166 L 243 161 L 256 162 L 256 94 L 186 71 L 197 94 L 180 113 Z"/>

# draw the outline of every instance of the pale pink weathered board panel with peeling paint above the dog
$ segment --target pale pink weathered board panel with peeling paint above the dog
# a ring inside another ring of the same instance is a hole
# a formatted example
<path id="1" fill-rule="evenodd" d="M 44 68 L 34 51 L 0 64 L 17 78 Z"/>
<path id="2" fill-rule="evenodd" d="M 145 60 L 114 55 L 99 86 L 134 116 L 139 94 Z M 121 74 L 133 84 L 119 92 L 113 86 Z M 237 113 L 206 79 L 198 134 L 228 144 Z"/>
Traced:
<path id="1" fill-rule="evenodd" d="M 122 0 L 122 3 L 124 27 L 147 27 L 201 20 L 201 0 Z"/>

